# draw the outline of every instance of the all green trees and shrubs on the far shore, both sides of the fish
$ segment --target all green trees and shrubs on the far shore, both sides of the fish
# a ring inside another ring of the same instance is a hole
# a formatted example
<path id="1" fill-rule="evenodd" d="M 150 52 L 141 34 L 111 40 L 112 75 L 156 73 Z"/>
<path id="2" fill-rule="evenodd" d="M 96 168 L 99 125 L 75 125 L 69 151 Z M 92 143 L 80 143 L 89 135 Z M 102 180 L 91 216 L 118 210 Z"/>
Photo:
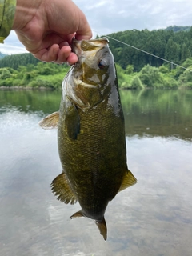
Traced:
<path id="1" fill-rule="evenodd" d="M 110 34 L 109 38 L 120 87 L 192 88 L 192 27 L 127 30 Z M 32 54 L 7 55 L 0 59 L 0 86 L 60 88 L 67 70 L 69 66 L 39 62 Z"/>

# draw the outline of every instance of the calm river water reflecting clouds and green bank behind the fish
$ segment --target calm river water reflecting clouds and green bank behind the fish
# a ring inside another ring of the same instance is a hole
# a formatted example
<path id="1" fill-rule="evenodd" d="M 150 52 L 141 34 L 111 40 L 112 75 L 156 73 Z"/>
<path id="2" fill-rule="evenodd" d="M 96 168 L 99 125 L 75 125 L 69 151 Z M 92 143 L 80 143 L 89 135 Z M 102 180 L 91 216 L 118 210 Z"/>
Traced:
<path id="1" fill-rule="evenodd" d="M 106 210 L 108 239 L 79 205 L 58 202 L 57 130 L 39 120 L 59 92 L 0 91 L 0 255 L 191 256 L 192 91 L 121 91 L 129 168 L 138 183 Z"/>

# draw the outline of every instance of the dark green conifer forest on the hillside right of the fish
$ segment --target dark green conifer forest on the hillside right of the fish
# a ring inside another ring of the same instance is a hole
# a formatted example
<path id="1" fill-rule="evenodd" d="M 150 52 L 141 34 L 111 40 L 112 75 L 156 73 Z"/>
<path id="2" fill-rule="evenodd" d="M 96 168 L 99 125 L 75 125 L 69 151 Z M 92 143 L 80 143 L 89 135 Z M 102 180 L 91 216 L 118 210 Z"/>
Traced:
<path id="1" fill-rule="evenodd" d="M 162 59 L 181 64 L 192 56 L 192 27 L 189 30 L 127 30 L 110 34 L 110 38 L 117 39 L 130 46 L 110 39 L 110 49 L 114 54 L 115 62 L 123 69 L 133 65 L 134 71 L 140 71 L 143 66 L 162 66 L 165 64 Z M 154 54 L 155 58 L 138 49 Z"/>

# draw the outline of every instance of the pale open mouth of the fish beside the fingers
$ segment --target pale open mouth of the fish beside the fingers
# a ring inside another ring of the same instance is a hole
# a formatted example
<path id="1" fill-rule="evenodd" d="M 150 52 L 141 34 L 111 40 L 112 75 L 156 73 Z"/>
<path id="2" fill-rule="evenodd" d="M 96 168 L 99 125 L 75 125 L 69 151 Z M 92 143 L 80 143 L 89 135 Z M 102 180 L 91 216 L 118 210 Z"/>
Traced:
<path id="1" fill-rule="evenodd" d="M 108 38 L 98 38 L 98 39 L 90 39 L 90 40 L 76 40 L 72 41 L 72 51 L 78 56 L 82 54 L 82 52 L 90 52 L 98 50 L 99 48 L 103 48 L 109 43 Z"/>

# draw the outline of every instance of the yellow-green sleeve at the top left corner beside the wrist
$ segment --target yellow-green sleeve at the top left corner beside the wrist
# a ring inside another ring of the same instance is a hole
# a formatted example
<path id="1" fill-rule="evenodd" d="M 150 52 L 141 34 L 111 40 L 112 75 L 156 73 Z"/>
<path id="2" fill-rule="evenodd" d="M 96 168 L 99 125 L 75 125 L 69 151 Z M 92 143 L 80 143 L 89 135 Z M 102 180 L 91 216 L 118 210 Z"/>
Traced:
<path id="1" fill-rule="evenodd" d="M 16 0 L 0 0 L 0 42 L 10 34 L 14 24 Z"/>

